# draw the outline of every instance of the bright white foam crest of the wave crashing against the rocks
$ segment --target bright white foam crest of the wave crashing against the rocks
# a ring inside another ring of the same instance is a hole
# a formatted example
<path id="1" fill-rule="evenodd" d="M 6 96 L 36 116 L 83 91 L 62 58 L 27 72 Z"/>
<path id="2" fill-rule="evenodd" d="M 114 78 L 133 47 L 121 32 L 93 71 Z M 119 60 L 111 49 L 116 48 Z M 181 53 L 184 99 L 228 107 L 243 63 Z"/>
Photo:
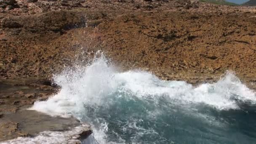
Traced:
<path id="1" fill-rule="evenodd" d="M 62 75 L 56 75 L 54 80 L 61 86 L 59 93 L 47 101 L 35 102 L 31 109 L 49 115 L 75 115 L 82 119 L 90 117 L 85 112 L 86 107 L 108 107 L 115 103 L 107 98 L 116 92 L 126 93 L 117 97 L 133 99 L 132 96 L 136 96 L 137 99 L 150 98 L 156 102 L 165 96 L 171 104 L 184 108 L 204 104 L 218 110 L 229 110 L 239 109 L 238 101 L 256 103 L 255 93 L 232 73 L 227 73 L 216 83 L 193 87 L 184 81 L 160 80 L 149 72 L 118 72 L 104 56 L 86 67 L 64 71 Z M 149 112 L 149 115 L 155 114 Z M 106 131 L 107 124 L 104 123 L 94 129 L 94 137 L 99 143 L 106 143 Z"/>

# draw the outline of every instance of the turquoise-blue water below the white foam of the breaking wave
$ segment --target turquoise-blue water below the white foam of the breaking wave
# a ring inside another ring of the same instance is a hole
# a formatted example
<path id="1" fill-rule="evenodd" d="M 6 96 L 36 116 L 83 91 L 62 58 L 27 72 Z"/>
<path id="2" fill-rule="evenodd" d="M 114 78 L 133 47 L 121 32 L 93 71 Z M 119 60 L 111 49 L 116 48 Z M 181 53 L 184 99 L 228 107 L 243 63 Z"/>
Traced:
<path id="1" fill-rule="evenodd" d="M 218 110 L 205 104 L 195 104 L 184 109 L 173 105 L 164 96 L 157 104 L 150 99 L 139 100 L 136 97 L 115 100 L 117 102 L 107 109 L 87 109 L 90 117 L 83 119 L 95 126 L 107 123 L 107 142 L 253 144 L 256 141 L 256 109 L 253 106 Z"/>

